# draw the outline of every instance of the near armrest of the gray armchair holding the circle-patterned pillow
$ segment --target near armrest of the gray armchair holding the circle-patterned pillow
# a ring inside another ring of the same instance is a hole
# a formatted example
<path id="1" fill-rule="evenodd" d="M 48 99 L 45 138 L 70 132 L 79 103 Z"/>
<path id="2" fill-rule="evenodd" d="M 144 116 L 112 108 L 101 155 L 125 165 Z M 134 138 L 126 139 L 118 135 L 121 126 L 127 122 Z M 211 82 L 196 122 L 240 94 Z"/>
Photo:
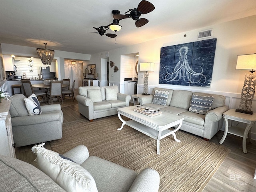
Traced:
<path id="1" fill-rule="evenodd" d="M 40 114 L 40 115 L 12 117 L 11 120 L 12 120 L 12 126 L 24 126 L 24 125 L 42 124 L 42 123 L 52 122 L 52 121 L 60 121 L 61 116 L 62 116 L 62 111 L 58 110 L 55 112 Z"/>

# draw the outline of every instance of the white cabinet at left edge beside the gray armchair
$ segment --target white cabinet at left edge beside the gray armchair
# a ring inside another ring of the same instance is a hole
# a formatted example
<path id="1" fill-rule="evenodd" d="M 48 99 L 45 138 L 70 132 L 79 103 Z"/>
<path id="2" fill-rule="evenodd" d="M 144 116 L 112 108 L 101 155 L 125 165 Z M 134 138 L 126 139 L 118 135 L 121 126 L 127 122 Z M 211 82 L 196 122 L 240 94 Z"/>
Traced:
<path id="1" fill-rule="evenodd" d="M 12 136 L 12 122 L 10 116 L 10 104 L 8 100 L 0 103 L 0 154 L 15 158 L 14 141 Z"/>

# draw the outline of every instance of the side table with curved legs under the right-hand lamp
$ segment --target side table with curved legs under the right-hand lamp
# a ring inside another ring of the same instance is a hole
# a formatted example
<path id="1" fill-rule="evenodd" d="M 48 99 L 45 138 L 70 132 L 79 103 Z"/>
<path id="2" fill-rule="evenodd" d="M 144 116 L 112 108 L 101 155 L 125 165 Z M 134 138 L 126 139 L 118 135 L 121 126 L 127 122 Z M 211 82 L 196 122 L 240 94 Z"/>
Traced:
<path id="1" fill-rule="evenodd" d="M 250 115 L 250 114 L 236 112 L 235 109 L 230 109 L 230 110 L 224 112 L 222 115 L 225 120 L 225 131 L 224 131 L 224 135 L 219 143 L 222 144 L 224 142 L 228 133 L 236 135 L 236 136 L 240 136 L 243 138 L 243 142 L 242 142 L 243 152 L 247 153 L 246 139 L 247 139 L 247 135 L 248 135 L 250 143 L 252 142 L 251 128 L 252 128 L 252 125 L 256 122 L 256 114 L 254 113 L 254 114 Z M 241 127 L 237 127 L 237 126 L 231 126 L 229 128 L 228 127 L 228 119 L 234 120 L 237 122 L 246 123 L 247 126 L 246 126 L 246 128 L 241 128 Z"/>

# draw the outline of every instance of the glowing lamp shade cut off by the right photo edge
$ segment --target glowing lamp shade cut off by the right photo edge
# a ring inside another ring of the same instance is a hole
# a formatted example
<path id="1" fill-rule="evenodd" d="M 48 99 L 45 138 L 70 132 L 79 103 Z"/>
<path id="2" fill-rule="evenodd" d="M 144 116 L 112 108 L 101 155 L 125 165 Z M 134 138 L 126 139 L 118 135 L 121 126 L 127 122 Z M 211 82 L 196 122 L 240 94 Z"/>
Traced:
<path id="1" fill-rule="evenodd" d="M 236 70 L 255 70 L 256 54 L 238 55 Z"/>

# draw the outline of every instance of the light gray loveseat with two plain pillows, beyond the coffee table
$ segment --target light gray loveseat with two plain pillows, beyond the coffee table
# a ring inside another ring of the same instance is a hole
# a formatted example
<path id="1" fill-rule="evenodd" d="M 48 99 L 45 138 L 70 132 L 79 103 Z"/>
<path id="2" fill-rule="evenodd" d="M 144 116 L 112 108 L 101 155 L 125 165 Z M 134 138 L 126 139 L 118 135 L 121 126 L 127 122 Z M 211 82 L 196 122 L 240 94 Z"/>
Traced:
<path id="1" fill-rule="evenodd" d="M 129 106 L 130 95 L 119 93 L 118 86 L 84 86 L 78 88 L 78 110 L 80 114 L 94 119 L 117 114 L 117 109 Z"/>

